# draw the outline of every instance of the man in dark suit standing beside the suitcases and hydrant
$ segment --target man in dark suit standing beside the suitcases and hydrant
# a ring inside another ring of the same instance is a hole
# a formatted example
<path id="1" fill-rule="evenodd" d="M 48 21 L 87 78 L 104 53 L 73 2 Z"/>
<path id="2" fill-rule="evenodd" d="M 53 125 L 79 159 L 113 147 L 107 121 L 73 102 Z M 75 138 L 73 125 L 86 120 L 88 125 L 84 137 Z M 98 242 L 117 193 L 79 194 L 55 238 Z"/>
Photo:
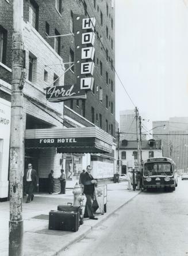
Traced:
<path id="1" fill-rule="evenodd" d="M 90 218 L 91 220 L 98 220 L 98 218 L 94 217 L 92 209 L 92 199 L 94 196 L 95 184 L 97 184 L 97 180 L 93 179 L 91 170 L 92 167 L 88 165 L 86 173 L 82 176 L 82 184 L 84 185 L 83 193 L 86 195 L 86 206 L 83 217 Z"/>

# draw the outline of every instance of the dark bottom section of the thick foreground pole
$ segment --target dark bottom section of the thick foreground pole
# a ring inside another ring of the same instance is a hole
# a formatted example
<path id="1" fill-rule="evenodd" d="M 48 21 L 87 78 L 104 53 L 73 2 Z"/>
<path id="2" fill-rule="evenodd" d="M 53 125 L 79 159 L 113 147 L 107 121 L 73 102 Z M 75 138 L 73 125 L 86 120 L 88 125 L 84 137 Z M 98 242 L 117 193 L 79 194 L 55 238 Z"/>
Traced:
<path id="1" fill-rule="evenodd" d="M 24 225 L 23 221 L 9 221 L 9 256 L 23 254 Z"/>

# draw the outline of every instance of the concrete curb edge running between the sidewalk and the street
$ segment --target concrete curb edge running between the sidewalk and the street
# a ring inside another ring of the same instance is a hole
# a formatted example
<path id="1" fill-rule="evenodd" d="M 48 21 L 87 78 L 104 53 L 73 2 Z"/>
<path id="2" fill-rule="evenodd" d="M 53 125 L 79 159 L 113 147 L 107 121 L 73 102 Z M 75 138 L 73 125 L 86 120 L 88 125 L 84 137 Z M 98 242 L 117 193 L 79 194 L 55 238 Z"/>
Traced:
<path id="1" fill-rule="evenodd" d="M 101 222 L 107 220 L 110 216 L 112 216 L 114 213 L 116 213 L 118 210 L 120 210 L 123 206 L 125 206 L 127 203 L 129 203 L 130 201 L 132 201 L 137 195 L 139 195 L 142 191 L 139 191 L 136 195 L 134 195 L 132 198 L 128 199 L 128 201 L 122 203 L 122 205 L 120 205 L 117 209 L 114 209 L 111 213 L 109 213 L 108 215 L 106 215 L 105 217 L 103 217 L 101 220 L 97 221 L 96 224 L 92 225 L 92 226 L 88 226 L 88 229 L 86 231 L 84 231 L 83 233 L 80 233 L 80 235 L 78 235 L 77 238 L 71 240 L 70 242 L 68 242 L 67 244 L 65 244 L 62 249 L 60 249 L 59 251 L 57 251 L 55 254 L 52 254 L 51 256 L 58 256 L 59 253 L 62 253 L 63 250 L 65 250 L 68 246 L 71 246 L 71 244 L 79 241 L 80 239 L 84 238 L 89 232 L 92 231 L 93 228 L 98 227 L 98 225 L 101 224 Z M 85 226 L 86 227 L 86 226 Z"/>

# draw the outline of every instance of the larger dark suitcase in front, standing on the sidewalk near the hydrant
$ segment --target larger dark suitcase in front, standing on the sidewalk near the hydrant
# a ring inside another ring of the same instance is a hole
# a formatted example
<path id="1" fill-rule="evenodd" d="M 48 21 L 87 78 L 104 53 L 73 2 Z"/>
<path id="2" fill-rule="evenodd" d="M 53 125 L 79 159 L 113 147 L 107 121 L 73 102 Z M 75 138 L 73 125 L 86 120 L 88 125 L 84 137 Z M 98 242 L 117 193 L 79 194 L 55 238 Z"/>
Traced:
<path id="1" fill-rule="evenodd" d="M 78 213 L 50 211 L 48 229 L 78 231 Z"/>

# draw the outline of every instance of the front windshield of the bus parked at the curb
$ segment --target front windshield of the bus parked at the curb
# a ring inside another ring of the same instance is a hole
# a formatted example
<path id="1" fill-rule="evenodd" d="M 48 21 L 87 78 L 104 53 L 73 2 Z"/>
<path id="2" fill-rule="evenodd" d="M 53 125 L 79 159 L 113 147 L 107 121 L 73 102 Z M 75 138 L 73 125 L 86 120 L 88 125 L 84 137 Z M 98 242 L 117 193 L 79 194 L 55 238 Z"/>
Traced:
<path id="1" fill-rule="evenodd" d="M 148 162 L 144 165 L 144 176 L 171 176 L 172 174 L 172 165 L 170 164 L 170 162 Z"/>

